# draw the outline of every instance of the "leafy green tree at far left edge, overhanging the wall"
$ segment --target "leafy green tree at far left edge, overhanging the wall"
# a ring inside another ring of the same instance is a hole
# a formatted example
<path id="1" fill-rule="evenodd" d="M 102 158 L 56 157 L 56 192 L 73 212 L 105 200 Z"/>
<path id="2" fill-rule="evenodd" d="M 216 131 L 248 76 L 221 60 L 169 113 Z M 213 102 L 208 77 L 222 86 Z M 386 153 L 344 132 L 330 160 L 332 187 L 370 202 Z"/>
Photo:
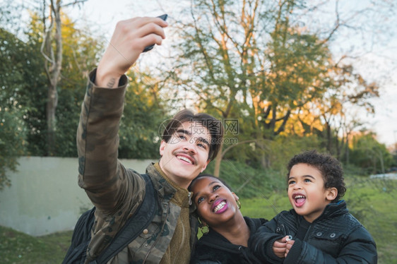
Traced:
<path id="1" fill-rule="evenodd" d="M 6 172 L 16 170 L 25 148 L 25 80 L 33 70 L 30 62 L 35 61 L 30 55 L 24 42 L 0 28 L 0 190 L 11 184 Z"/>

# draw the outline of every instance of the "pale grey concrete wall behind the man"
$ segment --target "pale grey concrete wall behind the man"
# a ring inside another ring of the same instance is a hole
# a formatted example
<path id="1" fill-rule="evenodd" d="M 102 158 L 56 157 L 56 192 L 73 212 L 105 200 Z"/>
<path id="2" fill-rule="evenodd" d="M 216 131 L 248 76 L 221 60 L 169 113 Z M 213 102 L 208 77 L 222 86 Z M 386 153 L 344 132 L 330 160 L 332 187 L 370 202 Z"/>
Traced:
<path id="1" fill-rule="evenodd" d="M 122 160 L 144 173 L 155 160 Z M 32 236 L 73 229 L 81 212 L 92 208 L 77 184 L 78 159 L 20 157 L 18 172 L 8 172 L 11 187 L 0 191 L 0 225 Z"/>

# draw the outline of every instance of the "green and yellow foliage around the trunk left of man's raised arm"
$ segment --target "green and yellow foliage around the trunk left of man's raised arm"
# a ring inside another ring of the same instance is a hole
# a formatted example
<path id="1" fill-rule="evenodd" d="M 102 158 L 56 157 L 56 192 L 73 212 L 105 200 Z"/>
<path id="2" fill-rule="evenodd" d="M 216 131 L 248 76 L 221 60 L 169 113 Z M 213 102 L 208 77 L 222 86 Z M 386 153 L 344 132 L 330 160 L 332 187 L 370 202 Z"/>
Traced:
<path id="1" fill-rule="evenodd" d="M 11 16 L 11 15 L 10 15 Z M 76 156 L 76 128 L 87 70 L 100 49 L 97 40 L 76 30 L 64 18 L 64 76 L 59 82 L 57 155 Z M 47 85 L 40 54 L 42 21 L 34 13 L 25 28 L 26 42 L 0 28 L 0 189 L 10 184 L 20 155 L 45 156 Z"/>

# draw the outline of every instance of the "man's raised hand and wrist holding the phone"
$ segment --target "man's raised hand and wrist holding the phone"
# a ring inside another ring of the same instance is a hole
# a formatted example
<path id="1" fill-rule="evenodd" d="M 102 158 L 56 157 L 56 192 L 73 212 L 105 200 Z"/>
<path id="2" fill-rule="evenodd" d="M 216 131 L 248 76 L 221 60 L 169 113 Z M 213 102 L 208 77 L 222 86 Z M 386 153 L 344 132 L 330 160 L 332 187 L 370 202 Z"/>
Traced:
<path id="1" fill-rule="evenodd" d="M 115 88 L 146 46 L 160 45 L 168 23 L 161 18 L 131 18 L 117 23 L 112 39 L 97 67 L 95 85 Z"/>

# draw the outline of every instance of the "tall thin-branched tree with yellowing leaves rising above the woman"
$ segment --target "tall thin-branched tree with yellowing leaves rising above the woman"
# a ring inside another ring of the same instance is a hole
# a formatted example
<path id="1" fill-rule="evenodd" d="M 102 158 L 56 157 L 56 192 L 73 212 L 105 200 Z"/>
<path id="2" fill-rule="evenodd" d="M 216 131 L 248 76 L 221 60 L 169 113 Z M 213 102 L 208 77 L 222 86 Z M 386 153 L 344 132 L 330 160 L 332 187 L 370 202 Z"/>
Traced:
<path id="1" fill-rule="evenodd" d="M 194 92 L 200 109 L 224 121 L 238 119 L 239 140 L 256 140 L 251 158 L 261 157 L 264 167 L 263 140 L 284 131 L 293 109 L 326 90 L 315 83 L 327 70 L 326 45 L 290 22 L 301 4 L 194 1 L 191 20 L 178 25 L 183 42 L 175 45 L 182 50 L 173 70 L 175 83 Z M 215 175 L 222 155 L 216 158 Z"/>

